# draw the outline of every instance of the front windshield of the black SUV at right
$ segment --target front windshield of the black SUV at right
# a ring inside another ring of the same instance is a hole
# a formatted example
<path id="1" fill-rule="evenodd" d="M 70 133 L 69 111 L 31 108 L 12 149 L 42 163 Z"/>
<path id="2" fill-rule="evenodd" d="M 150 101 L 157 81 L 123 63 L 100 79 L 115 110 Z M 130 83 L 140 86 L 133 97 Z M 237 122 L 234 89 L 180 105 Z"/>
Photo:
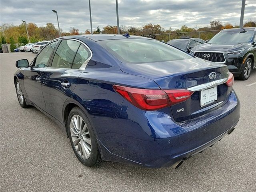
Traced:
<path id="1" fill-rule="evenodd" d="M 252 40 L 254 31 L 227 31 L 216 34 L 208 43 L 247 43 Z"/>

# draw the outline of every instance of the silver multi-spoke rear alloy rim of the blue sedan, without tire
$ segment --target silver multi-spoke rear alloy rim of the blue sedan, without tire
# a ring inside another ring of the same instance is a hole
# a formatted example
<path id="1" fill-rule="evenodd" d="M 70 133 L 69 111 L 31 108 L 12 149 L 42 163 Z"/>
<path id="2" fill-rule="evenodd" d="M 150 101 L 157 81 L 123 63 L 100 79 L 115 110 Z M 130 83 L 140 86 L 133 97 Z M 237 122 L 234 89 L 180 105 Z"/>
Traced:
<path id="1" fill-rule="evenodd" d="M 91 155 L 92 143 L 87 125 L 81 116 L 72 116 L 70 135 L 78 155 L 83 159 L 88 159 Z"/>

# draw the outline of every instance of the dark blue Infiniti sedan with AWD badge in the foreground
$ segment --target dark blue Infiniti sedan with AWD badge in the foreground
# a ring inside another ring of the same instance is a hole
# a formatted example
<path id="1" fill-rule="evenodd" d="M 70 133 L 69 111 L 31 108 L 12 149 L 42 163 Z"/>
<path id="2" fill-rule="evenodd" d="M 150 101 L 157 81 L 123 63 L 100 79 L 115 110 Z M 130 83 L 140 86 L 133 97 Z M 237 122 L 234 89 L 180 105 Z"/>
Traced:
<path id="1" fill-rule="evenodd" d="M 16 66 L 20 105 L 64 128 L 86 166 L 107 160 L 178 168 L 240 118 L 226 65 L 150 38 L 66 36 Z"/>

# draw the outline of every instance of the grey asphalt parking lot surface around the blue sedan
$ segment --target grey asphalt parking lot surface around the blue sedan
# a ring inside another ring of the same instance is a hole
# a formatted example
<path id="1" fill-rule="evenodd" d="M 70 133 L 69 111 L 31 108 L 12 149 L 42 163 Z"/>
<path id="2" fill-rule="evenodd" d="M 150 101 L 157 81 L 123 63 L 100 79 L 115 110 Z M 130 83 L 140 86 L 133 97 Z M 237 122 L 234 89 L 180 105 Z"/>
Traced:
<path id="1" fill-rule="evenodd" d="M 102 162 L 82 165 L 57 124 L 34 107 L 21 108 L 15 61 L 35 54 L 0 54 L 0 191 L 251 192 L 256 189 L 256 71 L 235 80 L 241 118 L 234 132 L 180 168 L 150 169 Z"/>

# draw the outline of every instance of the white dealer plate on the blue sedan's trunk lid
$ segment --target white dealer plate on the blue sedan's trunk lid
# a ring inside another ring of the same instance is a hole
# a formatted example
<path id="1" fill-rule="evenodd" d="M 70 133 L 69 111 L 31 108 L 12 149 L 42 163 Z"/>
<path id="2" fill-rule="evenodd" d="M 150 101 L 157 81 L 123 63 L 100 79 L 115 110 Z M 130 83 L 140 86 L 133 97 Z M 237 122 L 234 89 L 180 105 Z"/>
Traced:
<path id="1" fill-rule="evenodd" d="M 206 106 L 218 100 L 217 86 L 200 91 L 200 106 Z"/>

